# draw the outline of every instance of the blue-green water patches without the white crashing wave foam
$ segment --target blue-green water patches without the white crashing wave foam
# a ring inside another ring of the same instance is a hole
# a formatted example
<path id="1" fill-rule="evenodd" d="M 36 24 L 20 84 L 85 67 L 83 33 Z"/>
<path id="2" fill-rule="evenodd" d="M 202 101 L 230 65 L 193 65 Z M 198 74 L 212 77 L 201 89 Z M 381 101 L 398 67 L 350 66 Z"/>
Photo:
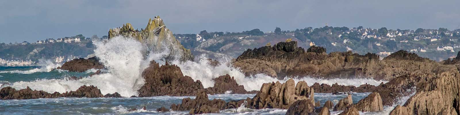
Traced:
<path id="1" fill-rule="evenodd" d="M 87 77 L 94 71 L 84 73 L 68 72 L 58 69 L 42 69 L 41 67 L 0 67 L 1 87 L 12 86 L 17 82 L 36 80 L 59 80 L 70 76 Z M 94 77 L 94 76 L 93 76 Z M 369 93 L 352 93 L 353 102 L 357 103 Z M 253 98 L 255 94 L 219 94 L 209 95 L 210 99 L 225 101 Z M 315 93 L 315 100 L 324 104 L 331 100 L 334 104 L 346 94 Z M 0 100 L 0 115 L 186 115 L 188 111 L 156 112 L 160 107 L 169 108 L 171 104 L 180 104 L 182 98 L 189 97 L 148 97 L 148 98 L 40 98 L 27 100 Z M 195 98 L 195 97 L 190 97 Z M 142 110 L 146 106 L 147 110 Z M 128 111 L 136 108 L 137 111 Z M 221 115 L 284 115 L 285 109 L 227 109 Z M 340 111 L 332 112 L 338 114 Z M 364 113 L 379 114 L 379 113 Z"/>

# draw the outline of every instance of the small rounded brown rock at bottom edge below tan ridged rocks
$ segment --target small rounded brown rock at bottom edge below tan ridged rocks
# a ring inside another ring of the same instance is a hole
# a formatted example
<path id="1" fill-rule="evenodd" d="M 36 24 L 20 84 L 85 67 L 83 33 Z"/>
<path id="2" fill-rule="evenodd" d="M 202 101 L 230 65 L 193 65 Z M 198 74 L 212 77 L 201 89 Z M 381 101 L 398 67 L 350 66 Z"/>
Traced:
<path id="1" fill-rule="evenodd" d="M 297 100 L 289 107 L 286 115 L 311 115 L 315 113 L 315 105 L 311 100 Z"/>

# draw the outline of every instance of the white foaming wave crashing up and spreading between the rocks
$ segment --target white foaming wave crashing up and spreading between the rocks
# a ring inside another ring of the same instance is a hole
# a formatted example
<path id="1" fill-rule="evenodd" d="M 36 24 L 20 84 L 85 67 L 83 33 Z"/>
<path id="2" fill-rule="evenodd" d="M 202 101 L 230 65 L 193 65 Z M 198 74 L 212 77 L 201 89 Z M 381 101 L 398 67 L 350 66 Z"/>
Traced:
<path id="1" fill-rule="evenodd" d="M 149 66 L 152 60 L 164 65 L 165 62 L 161 60 L 161 57 L 169 54 L 167 50 L 150 51 L 149 55 L 144 56 L 144 52 L 148 49 L 144 49 L 144 46 L 140 42 L 124 37 L 115 37 L 107 42 L 99 41 L 94 44 L 96 46 L 94 50 L 95 56 L 99 57 L 100 62 L 107 68 L 106 73 L 85 77 L 76 81 L 69 81 L 66 79 L 40 79 L 29 82 L 19 81 L 13 83 L 11 86 L 16 89 L 23 89 L 29 86 L 32 89 L 46 92 L 67 92 L 75 91 L 83 85 L 94 85 L 97 86 L 103 94 L 118 92 L 123 97 L 131 97 L 132 95 L 137 96 L 137 90 L 140 86 L 144 85 L 144 79 L 141 77 L 142 71 Z M 220 59 L 219 61 L 223 63 L 216 67 L 208 64 L 205 55 L 198 56 L 196 60 L 196 62 L 180 62 L 176 60 L 171 63 L 178 65 L 184 75 L 190 76 L 195 81 L 201 81 L 205 88 L 214 85 L 213 78 L 226 74 L 235 77 L 236 82 L 243 85 L 247 91 L 259 90 L 264 83 L 276 81 L 285 82 L 288 80 L 287 77 L 283 80 L 278 80 L 264 74 L 247 77 L 239 69 L 231 66 L 230 58 Z M 48 71 L 54 66 L 55 65 L 51 64 L 40 70 Z M 92 72 L 93 70 L 89 71 Z M 294 80 L 306 81 L 309 85 L 318 82 L 329 85 L 338 83 L 339 85 L 353 86 L 360 86 L 365 83 L 379 85 L 380 82 L 386 82 L 372 79 L 324 80 L 308 76 L 302 78 L 297 77 L 294 78 Z"/>

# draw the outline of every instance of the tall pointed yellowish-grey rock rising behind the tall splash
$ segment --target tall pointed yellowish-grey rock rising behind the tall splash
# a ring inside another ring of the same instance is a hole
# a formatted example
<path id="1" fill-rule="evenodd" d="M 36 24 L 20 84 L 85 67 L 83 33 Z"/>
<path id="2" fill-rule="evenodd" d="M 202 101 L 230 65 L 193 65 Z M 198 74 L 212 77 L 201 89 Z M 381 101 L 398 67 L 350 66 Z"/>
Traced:
<path id="1" fill-rule="evenodd" d="M 166 57 L 168 60 L 180 59 L 193 60 L 194 56 L 189 49 L 185 49 L 176 40 L 173 32 L 166 28 L 160 16 L 155 17 L 153 20 L 149 19 L 149 23 L 145 29 L 135 30 L 130 23 L 123 24 L 123 27 L 110 29 L 109 39 L 116 36 L 124 36 L 138 40 L 139 42 L 149 46 L 149 51 L 168 51 L 169 55 Z"/>

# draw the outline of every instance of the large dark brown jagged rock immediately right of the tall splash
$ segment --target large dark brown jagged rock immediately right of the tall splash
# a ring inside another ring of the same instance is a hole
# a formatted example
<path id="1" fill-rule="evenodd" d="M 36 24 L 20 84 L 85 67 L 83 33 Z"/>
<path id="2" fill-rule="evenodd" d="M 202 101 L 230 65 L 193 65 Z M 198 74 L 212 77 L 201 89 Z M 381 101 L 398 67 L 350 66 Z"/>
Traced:
<path id="1" fill-rule="evenodd" d="M 161 66 L 155 61 L 142 72 L 144 85 L 138 90 L 138 97 L 153 96 L 195 96 L 204 88 L 200 81 L 184 76 L 176 65 Z"/>

